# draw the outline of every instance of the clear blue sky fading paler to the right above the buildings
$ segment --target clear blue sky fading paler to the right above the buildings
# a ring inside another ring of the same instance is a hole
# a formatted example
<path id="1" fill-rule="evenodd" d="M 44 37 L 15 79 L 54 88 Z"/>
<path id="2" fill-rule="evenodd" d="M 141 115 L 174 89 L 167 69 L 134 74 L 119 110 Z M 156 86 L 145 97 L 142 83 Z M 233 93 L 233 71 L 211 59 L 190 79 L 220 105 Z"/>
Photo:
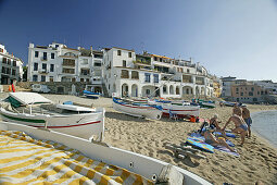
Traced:
<path id="1" fill-rule="evenodd" d="M 0 0 L 0 44 L 121 47 L 277 82 L 277 0 Z"/>

